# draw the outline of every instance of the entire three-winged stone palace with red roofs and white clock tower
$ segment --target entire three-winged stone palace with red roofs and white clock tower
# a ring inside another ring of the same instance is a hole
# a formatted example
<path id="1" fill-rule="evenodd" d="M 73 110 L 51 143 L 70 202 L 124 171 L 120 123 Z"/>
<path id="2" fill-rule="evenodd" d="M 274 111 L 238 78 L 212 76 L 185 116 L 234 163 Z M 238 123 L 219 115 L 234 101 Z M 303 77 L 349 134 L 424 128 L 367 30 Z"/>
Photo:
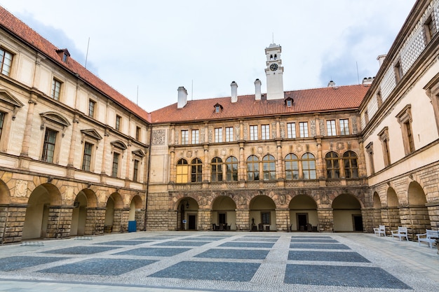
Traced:
<path id="1" fill-rule="evenodd" d="M 1 243 L 137 230 L 372 232 L 439 225 L 439 0 L 375 78 L 147 113 L 0 8 Z M 263 64 L 261 64 L 261 68 Z M 262 70 L 261 70 L 262 71 Z M 150 165 L 150 167 L 149 167 Z"/>

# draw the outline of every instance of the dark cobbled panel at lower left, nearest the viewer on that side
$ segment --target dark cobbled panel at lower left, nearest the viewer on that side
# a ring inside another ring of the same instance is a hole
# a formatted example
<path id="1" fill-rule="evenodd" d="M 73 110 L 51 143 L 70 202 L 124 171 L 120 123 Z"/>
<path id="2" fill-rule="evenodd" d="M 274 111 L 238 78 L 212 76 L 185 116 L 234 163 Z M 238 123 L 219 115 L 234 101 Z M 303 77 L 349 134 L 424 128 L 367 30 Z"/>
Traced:
<path id="1" fill-rule="evenodd" d="M 125 260 L 113 258 L 90 258 L 77 263 L 50 267 L 38 272 L 55 274 L 99 274 L 117 276 L 155 263 L 156 260 Z"/>

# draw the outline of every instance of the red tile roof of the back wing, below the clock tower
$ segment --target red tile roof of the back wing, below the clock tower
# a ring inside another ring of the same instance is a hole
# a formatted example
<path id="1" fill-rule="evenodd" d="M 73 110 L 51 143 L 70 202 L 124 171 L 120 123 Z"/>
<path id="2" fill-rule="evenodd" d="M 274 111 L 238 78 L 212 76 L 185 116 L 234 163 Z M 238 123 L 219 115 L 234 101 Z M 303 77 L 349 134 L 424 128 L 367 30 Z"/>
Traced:
<path id="1" fill-rule="evenodd" d="M 238 102 L 235 103 L 231 102 L 231 97 L 191 100 L 182 109 L 177 109 L 175 103 L 152 111 L 151 122 L 181 123 L 358 109 L 368 89 L 369 85 L 347 85 L 287 91 L 285 98 L 292 97 L 292 106 L 286 106 L 284 99 L 257 101 L 255 95 L 238 96 Z M 221 105 L 222 111 L 215 113 L 215 104 Z"/>

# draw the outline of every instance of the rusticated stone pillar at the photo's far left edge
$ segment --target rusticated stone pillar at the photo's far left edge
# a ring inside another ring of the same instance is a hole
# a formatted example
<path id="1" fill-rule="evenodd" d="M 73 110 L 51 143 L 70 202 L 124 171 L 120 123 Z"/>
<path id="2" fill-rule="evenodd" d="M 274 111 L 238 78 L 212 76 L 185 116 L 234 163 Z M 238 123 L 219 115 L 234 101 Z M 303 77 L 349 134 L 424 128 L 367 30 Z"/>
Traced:
<path id="1" fill-rule="evenodd" d="M 21 241 L 26 208 L 26 205 L 0 205 L 0 244 Z"/>

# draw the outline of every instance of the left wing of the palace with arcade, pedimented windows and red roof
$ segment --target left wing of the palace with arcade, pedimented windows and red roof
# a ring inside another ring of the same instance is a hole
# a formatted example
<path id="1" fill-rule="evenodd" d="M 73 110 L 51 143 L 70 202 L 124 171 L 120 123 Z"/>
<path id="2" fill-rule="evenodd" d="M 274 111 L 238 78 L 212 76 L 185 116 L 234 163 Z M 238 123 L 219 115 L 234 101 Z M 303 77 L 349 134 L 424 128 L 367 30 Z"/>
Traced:
<path id="1" fill-rule="evenodd" d="M 148 113 L 0 7 L 0 242 L 144 229 Z"/>

